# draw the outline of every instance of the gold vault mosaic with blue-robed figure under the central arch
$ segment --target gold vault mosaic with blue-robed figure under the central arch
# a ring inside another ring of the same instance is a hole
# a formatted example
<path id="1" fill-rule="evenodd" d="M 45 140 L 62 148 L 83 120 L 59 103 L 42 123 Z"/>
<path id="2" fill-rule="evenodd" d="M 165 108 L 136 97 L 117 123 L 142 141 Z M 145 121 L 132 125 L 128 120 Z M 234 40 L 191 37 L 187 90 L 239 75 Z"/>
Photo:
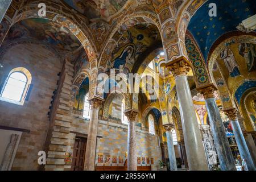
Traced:
<path id="1" fill-rule="evenodd" d="M 159 31 L 153 24 L 141 23 L 129 28 L 115 46 L 107 72 L 114 68 L 121 73 L 130 73 L 138 57 L 159 40 Z"/>

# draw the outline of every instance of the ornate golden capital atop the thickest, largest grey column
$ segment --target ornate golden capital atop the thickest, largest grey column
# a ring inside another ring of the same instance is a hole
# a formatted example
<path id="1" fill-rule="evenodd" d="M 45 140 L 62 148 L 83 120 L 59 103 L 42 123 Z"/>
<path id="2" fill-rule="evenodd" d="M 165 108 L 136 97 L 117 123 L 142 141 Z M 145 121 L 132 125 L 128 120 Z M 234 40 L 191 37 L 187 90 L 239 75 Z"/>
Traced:
<path id="1" fill-rule="evenodd" d="M 187 75 L 191 69 L 191 64 L 185 57 L 181 56 L 170 63 L 166 67 L 174 74 L 174 77 L 179 75 Z"/>

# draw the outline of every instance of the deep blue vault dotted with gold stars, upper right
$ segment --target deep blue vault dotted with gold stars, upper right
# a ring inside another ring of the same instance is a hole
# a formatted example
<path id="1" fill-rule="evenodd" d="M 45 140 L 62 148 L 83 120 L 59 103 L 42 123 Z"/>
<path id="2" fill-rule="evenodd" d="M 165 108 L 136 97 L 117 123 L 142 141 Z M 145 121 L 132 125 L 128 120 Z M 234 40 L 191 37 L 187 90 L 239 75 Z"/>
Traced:
<path id="1" fill-rule="evenodd" d="M 216 3 L 216 17 L 209 16 L 209 3 Z M 226 32 L 236 31 L 242 20 L 254 14 L 256 14 L 255 0 L 210 0 L 192 16 L 188 30 L 199 44 L 207 61 L 213 43 Z"/>

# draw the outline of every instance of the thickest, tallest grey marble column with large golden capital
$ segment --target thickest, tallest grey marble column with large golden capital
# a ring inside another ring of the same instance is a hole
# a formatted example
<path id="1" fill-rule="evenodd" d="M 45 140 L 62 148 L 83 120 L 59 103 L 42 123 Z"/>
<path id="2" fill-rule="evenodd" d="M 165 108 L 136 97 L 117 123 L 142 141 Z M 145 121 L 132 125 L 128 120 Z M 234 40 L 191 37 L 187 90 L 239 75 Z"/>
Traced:
<path id="1" fill-rule="evenodd" d="M 207 158 L 205 156 L 205 150 L 187 78 L 187 73 L 189 72 L 191 65 L 189 61 L 182 56 L 171 61 L 166 67 L 174 73 L 175 77 L 189 170 L 208 171 Z"/>

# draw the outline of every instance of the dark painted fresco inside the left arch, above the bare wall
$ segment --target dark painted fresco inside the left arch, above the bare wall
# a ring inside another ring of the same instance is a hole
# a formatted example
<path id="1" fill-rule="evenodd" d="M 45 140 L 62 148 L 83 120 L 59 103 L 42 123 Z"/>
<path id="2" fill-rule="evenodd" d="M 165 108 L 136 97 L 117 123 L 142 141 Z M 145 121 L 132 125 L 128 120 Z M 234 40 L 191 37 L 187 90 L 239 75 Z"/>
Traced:
<path id="1" fill-rule="evenodd" d="M 48 19 L 31 18 L 21 20 L 11 27 L 7 41 L 14 39 L 36 39 L 61 51 L 75 51 L 81 43 L 67 28 Z"/>

